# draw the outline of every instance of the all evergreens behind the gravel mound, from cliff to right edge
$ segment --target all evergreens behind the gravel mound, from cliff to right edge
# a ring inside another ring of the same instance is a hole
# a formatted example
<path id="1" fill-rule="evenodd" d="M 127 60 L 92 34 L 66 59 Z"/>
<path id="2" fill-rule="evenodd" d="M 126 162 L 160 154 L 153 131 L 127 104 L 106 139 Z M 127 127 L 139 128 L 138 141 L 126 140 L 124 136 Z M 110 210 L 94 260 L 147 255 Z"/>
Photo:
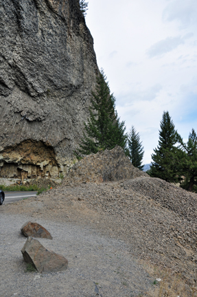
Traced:
<path id="1" fill-rule="evenodd" d="M 97 85 L 92 93 L 89 119 L 84 122 L 84 131 L 77 157 L 112 149 L 123 148 L 133 166 L 143 170 L 143 146 L 139 133 L 132 126 L 126 133 L 125 122 L 118 118 L 115 96 L 111 94 L 102 70 L 97 76 Z M 152 164 L 148 174 L 169 182 L 180 182 L 186 190 L 197 190 L 197 135 L 194 129 L 188 141 L 175 130 L 168 111 L 163 112 L 159 130 L 159 145 L 151 155 Z"/>

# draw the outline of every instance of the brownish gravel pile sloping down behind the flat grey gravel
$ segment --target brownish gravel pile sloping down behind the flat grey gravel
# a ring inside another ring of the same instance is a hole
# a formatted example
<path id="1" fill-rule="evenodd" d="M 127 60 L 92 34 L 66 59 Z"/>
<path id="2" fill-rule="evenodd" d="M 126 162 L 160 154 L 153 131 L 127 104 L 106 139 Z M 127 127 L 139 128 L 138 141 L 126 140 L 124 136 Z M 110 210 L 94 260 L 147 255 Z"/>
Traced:
<path id="1" fill-rule="evenodd" d="M 62 186 L 4 205 L 0 211 L 26 214 L 37 221 L 89 226 L 103 236 L 124 241 L 135 258 L 170 267 L 196 285 L 196 197 L 165 181 L 139 177 Z"/>

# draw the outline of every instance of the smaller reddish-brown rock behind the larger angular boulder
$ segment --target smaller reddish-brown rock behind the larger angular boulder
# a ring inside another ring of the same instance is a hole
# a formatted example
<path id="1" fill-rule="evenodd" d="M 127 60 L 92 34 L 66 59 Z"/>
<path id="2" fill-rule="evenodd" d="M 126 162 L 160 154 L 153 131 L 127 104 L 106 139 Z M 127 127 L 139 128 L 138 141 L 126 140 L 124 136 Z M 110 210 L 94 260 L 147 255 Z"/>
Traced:
<path id="1" fill-rule="evenodd" d="M 42 225 L 38 223 L 32 223 L 27 221 L 21 227 L 21 232 L 25 237 L 38 237 L 38 238 L 45 238 L 45 239 L 53 239 L 49 231 L 45 229 Z"/>

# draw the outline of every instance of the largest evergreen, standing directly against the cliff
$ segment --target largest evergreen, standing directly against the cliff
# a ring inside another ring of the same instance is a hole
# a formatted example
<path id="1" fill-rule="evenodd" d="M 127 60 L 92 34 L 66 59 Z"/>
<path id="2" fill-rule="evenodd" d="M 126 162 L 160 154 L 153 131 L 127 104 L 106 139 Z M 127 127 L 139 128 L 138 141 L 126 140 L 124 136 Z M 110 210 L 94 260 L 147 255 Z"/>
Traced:
<path id="1" fill-rule="evenodd" d="M 116 145 L 126 151 L 126 127 L 117 118 L 115 97 L 110 93 L 103 71 L 97 76 L 97 87 L 91 98 L 89 112 L 90 118 L 84 123 L 79 153 L 89 155 L 106 148 L 112 149 Z"/>

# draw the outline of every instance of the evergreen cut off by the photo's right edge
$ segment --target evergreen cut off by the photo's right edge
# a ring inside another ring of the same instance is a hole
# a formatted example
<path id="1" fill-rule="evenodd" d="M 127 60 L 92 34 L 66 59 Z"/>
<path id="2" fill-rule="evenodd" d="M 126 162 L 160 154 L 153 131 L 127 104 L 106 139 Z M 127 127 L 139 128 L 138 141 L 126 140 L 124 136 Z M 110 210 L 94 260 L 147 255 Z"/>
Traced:
<path id="1" fill-rule="evenodd" d="M 181 185 L 185 190 L 192 191 L 197 184 L 197 135 L 194 129 L 189 133 L 187 143 L 179 136 L 184 156 L 179 159 L 181 174 L 185 176 L 185 181 Z"/>

